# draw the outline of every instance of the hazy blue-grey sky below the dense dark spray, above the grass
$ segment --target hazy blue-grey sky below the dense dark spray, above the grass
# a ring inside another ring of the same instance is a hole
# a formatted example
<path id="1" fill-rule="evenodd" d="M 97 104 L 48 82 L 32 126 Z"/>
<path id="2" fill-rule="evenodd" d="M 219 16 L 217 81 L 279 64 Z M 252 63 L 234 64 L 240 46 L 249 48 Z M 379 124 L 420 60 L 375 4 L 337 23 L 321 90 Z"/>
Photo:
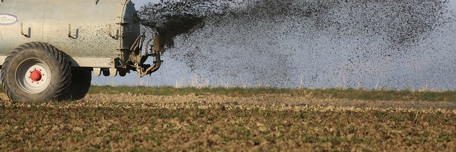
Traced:
<path id="1" fill-rule="evenodd" d="M 139 9 L 147 2 L 158 1 L 133 2 Z M 447 9 L 450 13 L 443 16 L 454 19 L 456 1 L 449 1 Z M 352 31 L 333 39 L 334 33 L 309 36 L 313 23 L 280 17 L 209 21 L 190 35 L 176 37 L 175 48 L 164 54 L 162 68 L 151 77 L 139 79 L 132 72 L 124 78 L 95 77 L 93 83 L 453 90 L 456 24 L 454 20 L 441 24 L 419 37 L 418 43 L 391 51 L 390 42 L 382 35 L 385 33 Z M 258 49 L 262 47 L 265 49 Z M 373 53 L 378 50 L 387 52 Z"/>

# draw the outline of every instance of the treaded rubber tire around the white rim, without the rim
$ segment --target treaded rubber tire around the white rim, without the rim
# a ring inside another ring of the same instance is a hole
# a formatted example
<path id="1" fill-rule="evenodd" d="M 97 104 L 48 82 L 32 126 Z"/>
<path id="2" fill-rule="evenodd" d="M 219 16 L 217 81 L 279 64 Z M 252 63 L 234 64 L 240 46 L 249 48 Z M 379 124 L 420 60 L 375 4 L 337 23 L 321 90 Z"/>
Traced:
<path id="1" fill-rule="evenodd" d="M 51 70 L 49 86 L 37 94 L 24 92 L 16 83 L 17 67 L 30 58 L 41 59 Z M 5 93 L 13 101 L 62 100 L 71 85 L 71 67 L 57 48 L 42 42 L 30 42 L 14 49 L 6 58 L 1 79 Z"/>

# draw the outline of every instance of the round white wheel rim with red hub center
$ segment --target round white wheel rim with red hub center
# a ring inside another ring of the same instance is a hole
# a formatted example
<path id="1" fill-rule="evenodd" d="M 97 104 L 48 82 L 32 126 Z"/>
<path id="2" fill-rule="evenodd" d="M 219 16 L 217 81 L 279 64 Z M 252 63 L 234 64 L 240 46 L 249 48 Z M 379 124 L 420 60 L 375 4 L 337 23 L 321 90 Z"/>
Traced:
<path id="1" fill-rule="evenodd" d="M 15 75 L 19 88 L 29 94 L 41 93 L 51 83 L 51 69 L 46 62 L 37 58 L 22 61 Z"/>

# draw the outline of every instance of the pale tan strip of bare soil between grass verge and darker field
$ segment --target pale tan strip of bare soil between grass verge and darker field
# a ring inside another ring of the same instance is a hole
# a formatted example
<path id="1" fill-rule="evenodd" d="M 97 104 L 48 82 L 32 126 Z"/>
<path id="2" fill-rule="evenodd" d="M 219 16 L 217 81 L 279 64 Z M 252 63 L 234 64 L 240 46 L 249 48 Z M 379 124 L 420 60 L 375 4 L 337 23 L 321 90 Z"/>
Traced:
<path id="1" fill-rule="evenodd" d="M 233 97 L 224 95 L 176 95 L 176 96 L 156 96 L 156 95 L 132 95 L 132 94 L 96 94 L 88 95 L 87 101 L 112 101 L 128 103 L 186 103 L 186 102 L 207 102 L 207 103 L 231 103 L 246 105 L 270 105 L 284 104 L 290 106 L 321 105 L 321 106 L 354 106 L 354 107 L 378 107 L 378 108 L 445 108 L 456 109 L 456 102 L 433 102 L 433 101 L 365 101 L 350 99 L 315 99 L 306 96 L 291 96 L 284 94 L 261 94 L 250 97 Z"/>

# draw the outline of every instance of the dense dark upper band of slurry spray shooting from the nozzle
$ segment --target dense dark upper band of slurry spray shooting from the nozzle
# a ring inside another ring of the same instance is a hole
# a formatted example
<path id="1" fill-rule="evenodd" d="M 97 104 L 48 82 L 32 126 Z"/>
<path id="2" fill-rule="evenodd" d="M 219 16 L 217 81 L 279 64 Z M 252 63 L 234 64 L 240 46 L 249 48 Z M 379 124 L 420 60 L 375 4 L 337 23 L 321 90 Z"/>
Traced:
<path id="1" fill-rule="evenodd" d="M 447 0 L 161 0 L 159 3 L 142 6 L 138 15 L 142 25 L 164 36 L 164 43 L 168 47 L 174 45 L 174 37 L 204 27 L 207 18 L 268 19 L 278 16 L 284 19 L 312 19 L 315 21 L 314 27 L 319 30 L 330 27 L 344 30 L 346 24 L 350 24 L 349 27 L 358 26 L 355 29 L 364 26 L 362 30 L 389 32 L 390 41 L 405 44 L 417 41 L 419 35 L 434 29 L 439 24 L 437 21 L 441 19 L 447 3 Z M 341 13 L 347 13 L 340 16 L 348 19 L 345 23 L 338 22 L 335 18 Z"/>

